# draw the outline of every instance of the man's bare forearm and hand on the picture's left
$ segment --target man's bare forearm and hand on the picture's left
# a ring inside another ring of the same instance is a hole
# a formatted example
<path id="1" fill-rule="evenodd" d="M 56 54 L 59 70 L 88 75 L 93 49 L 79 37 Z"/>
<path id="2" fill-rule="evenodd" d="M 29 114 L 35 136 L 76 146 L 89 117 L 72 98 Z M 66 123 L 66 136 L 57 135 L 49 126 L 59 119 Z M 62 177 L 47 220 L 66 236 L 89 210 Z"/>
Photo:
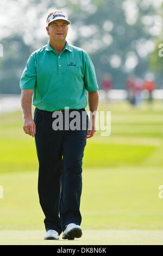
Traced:
<path id="1" fill-rule="evenodd" d="M 32 118 L 32 93 L 33 89 L 24 89 L 21 92 L 21 106 L 23 110 L 23 130 L 26 134 L 34 137 L 36 126 Z"/>

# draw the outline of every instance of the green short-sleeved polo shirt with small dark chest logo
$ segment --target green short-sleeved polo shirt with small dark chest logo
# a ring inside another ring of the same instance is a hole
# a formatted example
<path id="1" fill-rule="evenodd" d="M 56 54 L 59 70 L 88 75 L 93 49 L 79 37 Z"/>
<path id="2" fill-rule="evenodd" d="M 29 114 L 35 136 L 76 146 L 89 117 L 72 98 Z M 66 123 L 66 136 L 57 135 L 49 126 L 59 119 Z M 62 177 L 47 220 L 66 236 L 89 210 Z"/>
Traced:
<path id="1" fill-rule="evenodd" d="M 58 54 L 48 44 L 34 51 L 20 80 L 20 88 L 33 89 L 33 105 L 46 111 L 85 108 L 85 90 L 98 90 L 95 68 L 89 55 L 69 45 Z"/>

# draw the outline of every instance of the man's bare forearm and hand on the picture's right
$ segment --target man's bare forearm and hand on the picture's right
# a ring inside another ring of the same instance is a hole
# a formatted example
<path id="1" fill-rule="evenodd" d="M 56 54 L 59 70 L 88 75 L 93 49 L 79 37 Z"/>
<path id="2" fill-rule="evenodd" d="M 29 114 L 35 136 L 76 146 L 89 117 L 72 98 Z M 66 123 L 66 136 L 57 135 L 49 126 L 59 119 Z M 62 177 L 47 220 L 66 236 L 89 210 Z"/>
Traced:
<path id="1" fill-rule="evenodd" d="M 96 132 L 96 113 L 98 109 L 98 90 L 95 92 L 88 92 L 88 103 L 90 110 L 90 124 L 89 124 L 89 132 L 86 138 L 91 138 Z"/>

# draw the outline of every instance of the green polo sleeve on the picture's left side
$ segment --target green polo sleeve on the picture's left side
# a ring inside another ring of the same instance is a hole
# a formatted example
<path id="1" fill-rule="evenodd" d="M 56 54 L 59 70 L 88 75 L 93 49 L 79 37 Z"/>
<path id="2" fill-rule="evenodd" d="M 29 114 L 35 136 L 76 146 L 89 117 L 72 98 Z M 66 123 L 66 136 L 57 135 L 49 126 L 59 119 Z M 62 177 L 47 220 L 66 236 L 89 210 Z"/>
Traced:
<path id="1" fill-rule="evenodd" d="M 20 80 L 20 88 L 23 89 L 34 89 L 36 83 L 36 62 L 34 54 L 31 54 L 26 68 L 23 71 Z"/>

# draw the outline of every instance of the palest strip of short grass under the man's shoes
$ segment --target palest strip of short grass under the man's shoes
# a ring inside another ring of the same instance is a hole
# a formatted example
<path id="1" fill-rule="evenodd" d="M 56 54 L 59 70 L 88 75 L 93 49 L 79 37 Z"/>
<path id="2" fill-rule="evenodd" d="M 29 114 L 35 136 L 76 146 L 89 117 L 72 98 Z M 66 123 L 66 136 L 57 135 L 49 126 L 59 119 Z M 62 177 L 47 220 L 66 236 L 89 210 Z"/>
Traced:
<path id="1" fill-rule="evenodd" d="M 0 245 L 162 245 L 162 230 L 86 230 L 80 239 L 43 240 L 42 230 L 0 230 Z M 71 247 L 70 247 L 71 248 Z"/>

